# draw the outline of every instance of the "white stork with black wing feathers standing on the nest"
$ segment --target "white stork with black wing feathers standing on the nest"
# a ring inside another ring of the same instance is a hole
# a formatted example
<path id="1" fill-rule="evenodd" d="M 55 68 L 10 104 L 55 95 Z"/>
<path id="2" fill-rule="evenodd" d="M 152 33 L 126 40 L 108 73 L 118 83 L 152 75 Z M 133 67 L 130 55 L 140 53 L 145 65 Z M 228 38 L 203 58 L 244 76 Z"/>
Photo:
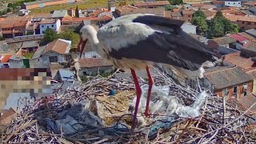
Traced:
<path id="1" fill-rule="evenodd" d="M 90 25 L 80 30 L 77 50 L 81 54 L 89 40 L 98 54 L 113 62 L 116 68 L 131 71 L 137 95 L 133 128 L 142 94 L 135 70 L 146 69 L 149 78 L 145 111 L 149 116 L 150 93 L 154 84 L 149 67 L 154 62 L 168 64 L 193 79 L 202 78 L 204 68 L 219 62 L 220 56 L 182 31 L 182 24 L 183 21 L 153 14 L 129 14 L 107 23 L 98 32 Z"/>

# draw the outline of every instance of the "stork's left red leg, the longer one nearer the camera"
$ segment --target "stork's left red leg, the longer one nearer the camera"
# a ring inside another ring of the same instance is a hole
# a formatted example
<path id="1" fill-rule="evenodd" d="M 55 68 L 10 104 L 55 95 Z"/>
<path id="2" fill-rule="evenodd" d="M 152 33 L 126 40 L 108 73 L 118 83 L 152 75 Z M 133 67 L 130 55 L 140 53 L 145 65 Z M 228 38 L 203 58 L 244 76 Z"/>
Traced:
<path id="1" fill-rule="evenodd" d="M 136 105 L 135 105 L 135 110 L 134 110 L 134 119 L 133 119 L 133 125 L 132 125 L 132 129 L 134 130 L 135 126 L 136 126 L 136 118 L 137 118 L 137 113 L 138 113 L 138 104 L 139 101 L 141 99 L 141 95 L 142 95 L 142 89 L 139 86 L 138 83 L 138 78 L 136 76 L 136 73 L 133 69 L 130 69 L 131 71 L 131 75 L 134 78 L 134 83 L 135 83 L 135 89 L 136 89 L 136 95 L 137 95 L 137 100 L 136 100 Z"/>

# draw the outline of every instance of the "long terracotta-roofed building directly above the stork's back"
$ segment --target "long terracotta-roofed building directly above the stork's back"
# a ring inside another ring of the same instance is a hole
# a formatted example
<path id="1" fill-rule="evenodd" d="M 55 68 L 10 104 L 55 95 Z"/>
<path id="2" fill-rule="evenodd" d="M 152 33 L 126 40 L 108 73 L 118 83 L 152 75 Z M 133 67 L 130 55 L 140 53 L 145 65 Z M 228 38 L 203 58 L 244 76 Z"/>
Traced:
<path id="1" fill-rule="evenodd" d="M 123 16 L 126 14 L 155 14 L 158 16 L 165 16 L 165 8 L 134 8 L 129 6 L 122 6 L 115 9 L 115 13 L 118 14 L 118 16 Z"/>

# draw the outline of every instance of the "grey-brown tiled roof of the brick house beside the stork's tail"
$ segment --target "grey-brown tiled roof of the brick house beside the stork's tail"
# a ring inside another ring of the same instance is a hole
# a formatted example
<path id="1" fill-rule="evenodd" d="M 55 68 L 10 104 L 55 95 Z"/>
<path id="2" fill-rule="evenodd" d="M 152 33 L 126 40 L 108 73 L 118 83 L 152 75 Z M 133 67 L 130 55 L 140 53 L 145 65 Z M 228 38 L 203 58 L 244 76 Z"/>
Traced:
<path id="1" fill-rule="evenodd" d="M 204 75 L 213 84 L 215 90 L 236 86 L 253 80 L 250 74 L 246 74 L 246 72 L 237 66 L 221 70 L 217 69 L 211 72 L 206 71 Z"/>

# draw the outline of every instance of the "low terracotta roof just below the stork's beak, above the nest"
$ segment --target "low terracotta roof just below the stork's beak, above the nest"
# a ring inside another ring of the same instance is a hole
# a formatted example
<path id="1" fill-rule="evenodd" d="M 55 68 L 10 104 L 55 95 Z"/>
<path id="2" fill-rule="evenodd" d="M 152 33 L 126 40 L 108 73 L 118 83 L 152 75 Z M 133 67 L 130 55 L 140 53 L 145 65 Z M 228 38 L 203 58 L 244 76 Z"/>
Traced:
<path id="1" fill-rule="evenodd" d="M 82 58 L 78 62 L 81 68 L 113 65 L 111 62 L 104 58 Z"/>

